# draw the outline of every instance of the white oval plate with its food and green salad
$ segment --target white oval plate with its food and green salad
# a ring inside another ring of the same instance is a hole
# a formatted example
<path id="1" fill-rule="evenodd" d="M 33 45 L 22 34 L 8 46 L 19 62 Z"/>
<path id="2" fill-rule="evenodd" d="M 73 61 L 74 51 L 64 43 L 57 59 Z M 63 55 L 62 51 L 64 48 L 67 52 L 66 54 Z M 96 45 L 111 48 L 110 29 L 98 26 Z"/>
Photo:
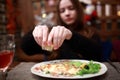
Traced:
<path id="1" fill-rule="evenodd" d="M 106 65 L 101 62 L 75 59 L 45 61 L 31 67 L 33 74 L 54 79 L 86 79 L 103 75 L 106 71 Z"/>

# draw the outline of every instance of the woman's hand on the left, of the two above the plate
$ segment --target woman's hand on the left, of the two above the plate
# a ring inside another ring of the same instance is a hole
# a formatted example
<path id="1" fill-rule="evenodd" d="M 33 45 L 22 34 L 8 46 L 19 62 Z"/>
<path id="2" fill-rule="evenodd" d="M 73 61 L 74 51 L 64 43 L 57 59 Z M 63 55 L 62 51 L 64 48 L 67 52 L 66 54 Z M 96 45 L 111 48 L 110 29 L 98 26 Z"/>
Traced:
<path id="1" fill-rule="evenodd" d="M 48 27 L 46 25 L 37 25 L 33 30 L 33 37 L 38 45 L 44 47 L 47 45 Z"/>

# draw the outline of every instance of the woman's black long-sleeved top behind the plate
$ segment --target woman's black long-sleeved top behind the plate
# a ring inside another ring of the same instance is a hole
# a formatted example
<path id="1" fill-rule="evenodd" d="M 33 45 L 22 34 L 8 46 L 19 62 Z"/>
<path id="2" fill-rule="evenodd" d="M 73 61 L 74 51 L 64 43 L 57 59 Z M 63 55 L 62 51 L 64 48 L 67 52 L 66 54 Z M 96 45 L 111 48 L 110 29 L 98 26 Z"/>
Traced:
<path id="1" fill-rule="evenodd" d="M 99 43 L 76 32 L 72 33 L 71 39 L 65 40 L 58 49 L 59 56 L 57 59 L 87 59 L 101 61 L 102 47 Z M 21 48 L 27 55 L 47 55 L 49 53 L 42 50 L 41 46 L 36 43 L 32 31 L 22 38 Z M 82 57 L 80 57 L 80 55 L 82 55 Z"/>

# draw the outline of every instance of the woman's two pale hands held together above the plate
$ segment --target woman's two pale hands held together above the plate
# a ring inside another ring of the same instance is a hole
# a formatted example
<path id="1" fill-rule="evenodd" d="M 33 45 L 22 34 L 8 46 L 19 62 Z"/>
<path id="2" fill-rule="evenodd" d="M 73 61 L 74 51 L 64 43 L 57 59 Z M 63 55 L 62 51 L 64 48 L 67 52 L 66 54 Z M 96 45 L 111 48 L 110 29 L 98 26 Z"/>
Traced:
<path id="1" fill-rule="evenodd" d="M 46 25 L 38 25 L 33 30 L 33 37 L 38 45 L 42 47 L 52 46 L 54 50 L 58 49 L 70 36 L 70 30 L 63 26 L 55 26 L 49 32 Z"/>

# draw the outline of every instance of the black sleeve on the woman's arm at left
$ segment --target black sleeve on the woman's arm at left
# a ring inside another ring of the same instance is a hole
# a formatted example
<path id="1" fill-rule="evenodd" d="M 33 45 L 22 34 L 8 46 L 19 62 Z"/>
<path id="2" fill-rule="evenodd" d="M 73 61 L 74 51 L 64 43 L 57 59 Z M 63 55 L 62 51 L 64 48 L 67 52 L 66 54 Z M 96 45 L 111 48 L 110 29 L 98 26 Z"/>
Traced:
<path id="1" fill-rule="evenodd" d="M 32 31 L 28 32 L 22 37 L 20 47 L 27 55 L 43 53 L 41 46 L 35 41 Z"/>

